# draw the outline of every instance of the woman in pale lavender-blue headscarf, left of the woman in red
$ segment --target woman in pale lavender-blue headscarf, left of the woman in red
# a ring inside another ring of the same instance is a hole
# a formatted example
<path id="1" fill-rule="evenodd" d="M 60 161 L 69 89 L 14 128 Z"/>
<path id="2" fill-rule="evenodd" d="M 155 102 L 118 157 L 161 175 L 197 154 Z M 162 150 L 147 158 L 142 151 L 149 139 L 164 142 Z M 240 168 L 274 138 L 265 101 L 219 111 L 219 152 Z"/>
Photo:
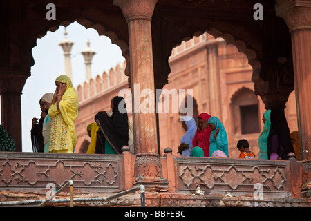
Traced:
<path id="1" fill-rule="evenodd" d="M 192 151 L 192 140 L 196 134 L 196 121 L 194 118 L 185 116 L 182 117 L 182 127 L 186 131 L 185 135 L 180 139 L 180 146 L 178 146 L 178 153 L 182 157 L 189 157 Z"/>

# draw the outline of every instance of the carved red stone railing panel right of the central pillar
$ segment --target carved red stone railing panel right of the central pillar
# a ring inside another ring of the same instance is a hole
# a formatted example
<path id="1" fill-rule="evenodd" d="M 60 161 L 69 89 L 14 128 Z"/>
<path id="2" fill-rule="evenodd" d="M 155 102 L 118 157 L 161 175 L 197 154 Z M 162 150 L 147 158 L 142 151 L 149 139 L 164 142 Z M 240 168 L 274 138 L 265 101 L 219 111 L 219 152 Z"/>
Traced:
<path id="1" fill-rule="evenodd" d="M 290 198 L 301 184 L 292 177 L 300 173 L 295 159 L 242 160 L 224 158 L 174 157 L 177 167 L 176 191 L 195 193 L 197 186 L 205 195 L 253 197 L 262 193 L 264 198 Z"/>

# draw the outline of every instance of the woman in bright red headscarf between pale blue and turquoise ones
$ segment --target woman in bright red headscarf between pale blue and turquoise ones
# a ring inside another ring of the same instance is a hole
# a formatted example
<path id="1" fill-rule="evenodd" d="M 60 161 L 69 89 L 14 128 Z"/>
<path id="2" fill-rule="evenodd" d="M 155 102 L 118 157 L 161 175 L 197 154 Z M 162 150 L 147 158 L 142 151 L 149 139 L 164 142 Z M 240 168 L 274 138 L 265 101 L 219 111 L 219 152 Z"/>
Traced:
<path id="1" fill-rule="evenodd" d="M 192 146 L 199 146 L 204 152 L 204 157 L 209 157 L 209 137 L 211 135 L 211 129 L 208 126 L 207 121 L 211 115 L 207 113 L 201 113 L 198 115 L 198 130 L 194 139 L 192 140 Z"/>

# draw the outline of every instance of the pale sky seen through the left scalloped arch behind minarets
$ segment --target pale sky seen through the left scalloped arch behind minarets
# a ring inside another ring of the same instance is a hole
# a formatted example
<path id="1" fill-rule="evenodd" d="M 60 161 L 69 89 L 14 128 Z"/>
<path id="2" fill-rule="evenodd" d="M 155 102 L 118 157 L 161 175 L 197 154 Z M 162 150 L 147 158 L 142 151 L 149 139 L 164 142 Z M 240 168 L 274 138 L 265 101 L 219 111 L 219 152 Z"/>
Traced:
<path id="1" fill-rule="evenodd" d="M 32 152 L 31 122 L 33 117 L 40 118 L 39 100 L 45 93 L 54 93 L 56 77 L 65 74 L 64 52 L 58 45 L 65 37 L 64 30 L 64 26 L 60 26 L 55 32 L 48 31 L 44 37 L 37 39 L 37 46 L 32 48 L 35 64 L 31 67 L 31 76 L 28 77 L 21 95 L 23 152 Z M 111 44 L 109 37 L 99 36 L 95 29 L 86 29 L 74 22 L 67 26 L 66 30 L 67 38 L 74 43 L 71 49 L 73 75 L 71 80 L 74 87 L 86 79 L 84 57 L 81 52 L 86 49 L 87 41 L 90 41 L 91 49 L 96 52 L 92 59 L 92 77 L 125 61 L 119 46 Z"/>

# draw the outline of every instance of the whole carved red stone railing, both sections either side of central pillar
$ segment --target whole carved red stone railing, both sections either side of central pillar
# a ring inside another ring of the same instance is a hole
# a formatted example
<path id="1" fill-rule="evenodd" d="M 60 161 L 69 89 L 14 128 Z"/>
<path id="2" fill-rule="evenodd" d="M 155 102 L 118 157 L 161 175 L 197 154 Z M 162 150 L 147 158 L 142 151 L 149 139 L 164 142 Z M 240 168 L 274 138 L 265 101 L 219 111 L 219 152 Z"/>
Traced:
<path id="1" fill-rule="evenodd" d="M 0 192 L 46 193 L 48 184 L 73 180 L 79 193 L 116 193 L 135 183 L 135 158 L 121 155 L 0 153 Z M 160 157 L 166 193 L 191 200 L 197 186 L 205 198 L 225 196 L 265 199 L 301 198 L 302 162 L 234 158 Z M 146 165 L 146 169 L 148 165 Z M 260 195 L 261 193 L 262 195 Z M 192 199 L 193 200 L 193 199 Z"/>

